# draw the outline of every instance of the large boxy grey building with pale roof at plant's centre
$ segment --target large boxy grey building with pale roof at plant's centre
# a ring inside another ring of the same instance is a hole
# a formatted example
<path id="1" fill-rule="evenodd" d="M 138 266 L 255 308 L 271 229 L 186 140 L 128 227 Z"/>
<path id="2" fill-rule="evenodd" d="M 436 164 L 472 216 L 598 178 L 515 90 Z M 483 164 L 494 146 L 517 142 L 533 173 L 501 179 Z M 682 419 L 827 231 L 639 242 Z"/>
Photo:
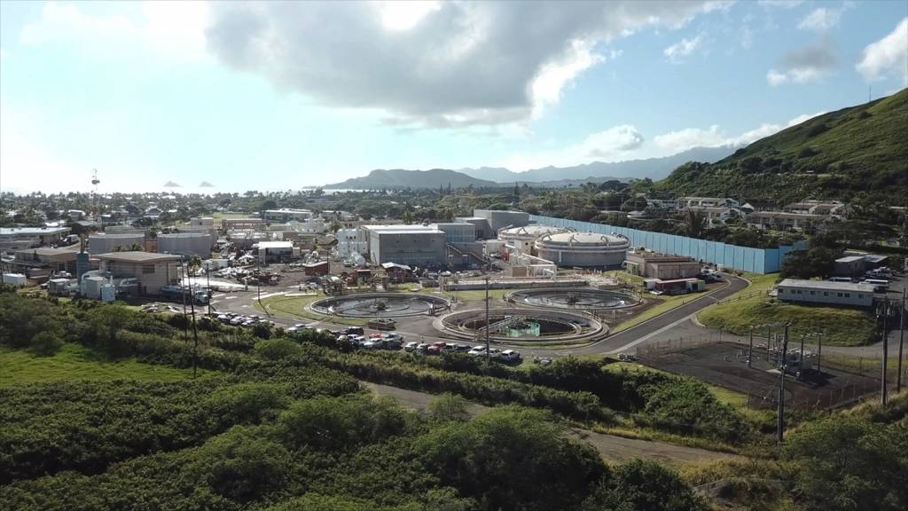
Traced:
<path id="1" fill-rule="evenodd" d="M 360 241 L 373 264 L 409 266 L 448 264 L 445 232 L 433 225 L 360 225 Z"/>

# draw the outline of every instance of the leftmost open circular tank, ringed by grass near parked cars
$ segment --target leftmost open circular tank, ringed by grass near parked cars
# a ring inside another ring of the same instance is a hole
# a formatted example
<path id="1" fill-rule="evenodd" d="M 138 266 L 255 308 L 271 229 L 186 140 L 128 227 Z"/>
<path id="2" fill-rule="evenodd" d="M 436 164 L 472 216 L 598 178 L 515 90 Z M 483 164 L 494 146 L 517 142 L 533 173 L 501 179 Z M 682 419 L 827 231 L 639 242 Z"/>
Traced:
<path id="1" fill-rule="evenodd" d="M 310 306 L 313 312 L 344 317 L 404 317 L 431 315 L 450 308 L 444 298 L 400 293 L 332 296 Z"/>

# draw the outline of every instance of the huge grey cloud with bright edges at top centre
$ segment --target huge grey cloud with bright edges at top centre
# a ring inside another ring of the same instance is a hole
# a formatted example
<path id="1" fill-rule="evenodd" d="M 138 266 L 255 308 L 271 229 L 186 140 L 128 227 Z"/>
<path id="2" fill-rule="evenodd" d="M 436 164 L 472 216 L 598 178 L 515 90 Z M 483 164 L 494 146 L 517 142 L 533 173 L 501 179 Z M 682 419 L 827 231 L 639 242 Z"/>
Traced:
<path id="1" fill-rule="evenodd" d="M 443 2 L 389 30 L 361 3 L 224 2 L 206 34 L 223 63 L 322 105 L 376 109 L 395 125 L 499 125 L 557 104 L 605 61 L 599 45 L 724 5 Z"/>

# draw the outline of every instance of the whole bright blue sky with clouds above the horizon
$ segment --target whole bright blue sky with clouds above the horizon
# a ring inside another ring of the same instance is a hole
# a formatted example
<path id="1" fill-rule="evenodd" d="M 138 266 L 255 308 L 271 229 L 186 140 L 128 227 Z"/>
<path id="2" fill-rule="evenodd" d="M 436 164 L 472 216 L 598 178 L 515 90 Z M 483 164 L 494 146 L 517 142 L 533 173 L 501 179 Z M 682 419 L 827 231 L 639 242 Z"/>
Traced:
<path id="1" fill-rule="evenodd" d="M 623 161 L 905 86 L 903 0 L 3 1 L 0 191 Z"/>

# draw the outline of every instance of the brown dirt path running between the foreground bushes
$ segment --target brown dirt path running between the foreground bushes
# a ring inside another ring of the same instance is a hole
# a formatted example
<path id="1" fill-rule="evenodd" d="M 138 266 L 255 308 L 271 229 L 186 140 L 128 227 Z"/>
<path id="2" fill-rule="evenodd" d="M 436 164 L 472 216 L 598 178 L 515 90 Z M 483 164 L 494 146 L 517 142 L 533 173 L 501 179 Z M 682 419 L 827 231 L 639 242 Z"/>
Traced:
<path id="1" fill-rule="evenodd" d="M 373 384 L 370 382 L 360 383 L 378 396 L 393 396 L 397 399 L 400 406 L 419 411 L 426 410 L 429 403 L 435 398 L 435 396 L 425 392 L 407 390 L 396 386 Z M 473 403 L 469 406 L 469 413 L 473 416 L 478 416 L 490 409 L 489 406 Z M 649 440 L 635 440 L 622 436 L 604 435 L 602 433 L 595 433 L 593 431 L 575 427 L 568 429 L 568 436 L 572 436 L 577 438 L 577 440 L 593 446 L 599 453 L 599 456 L 602 456 L 603 459 L 612 463 L 621 463 L 628 459 L 640 457 L 664 462 L 669 465 L 679 465 L 689 462 L 712 461 L 735 457 L 735 455 L 716 453 L 714 451 L 707 451 L 706 449 L 673 446 L 671 444 L 663 444 L 661 442 L 652 442 Z"/>

